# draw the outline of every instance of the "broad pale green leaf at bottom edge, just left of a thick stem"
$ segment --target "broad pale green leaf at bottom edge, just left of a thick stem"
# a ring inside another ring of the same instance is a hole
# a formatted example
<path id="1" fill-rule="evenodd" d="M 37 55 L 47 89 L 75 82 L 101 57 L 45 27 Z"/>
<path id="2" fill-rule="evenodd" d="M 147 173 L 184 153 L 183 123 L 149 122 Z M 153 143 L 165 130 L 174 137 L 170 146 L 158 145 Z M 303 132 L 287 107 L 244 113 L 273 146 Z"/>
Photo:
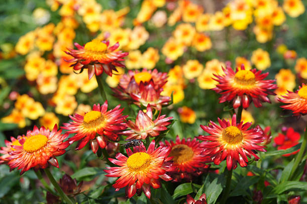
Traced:
<path id="1" fill-rule="evenodd" d="M 225 183 L 225 175 L 220 174 L 207 186 L 205 193 L 208 204 L 216 202 L 217 198 L 219 197 L 219 195 L 223 190 L 224 183 Z"/>

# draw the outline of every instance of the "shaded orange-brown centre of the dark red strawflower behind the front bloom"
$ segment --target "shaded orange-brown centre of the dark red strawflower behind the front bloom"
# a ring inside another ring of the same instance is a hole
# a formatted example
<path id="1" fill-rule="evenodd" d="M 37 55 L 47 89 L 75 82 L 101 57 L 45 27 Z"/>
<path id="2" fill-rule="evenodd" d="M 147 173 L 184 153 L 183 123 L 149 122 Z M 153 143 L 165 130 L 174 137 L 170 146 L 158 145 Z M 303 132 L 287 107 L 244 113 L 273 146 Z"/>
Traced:
<path id="1" fill-rule="evenodd" d="M 169 156 L 174 156 L 173 161 L 177 164 L 182 164 L 189 161 L 194 155 L 194 151 L 186 144 L 176 144 L 173 146 Z"/>

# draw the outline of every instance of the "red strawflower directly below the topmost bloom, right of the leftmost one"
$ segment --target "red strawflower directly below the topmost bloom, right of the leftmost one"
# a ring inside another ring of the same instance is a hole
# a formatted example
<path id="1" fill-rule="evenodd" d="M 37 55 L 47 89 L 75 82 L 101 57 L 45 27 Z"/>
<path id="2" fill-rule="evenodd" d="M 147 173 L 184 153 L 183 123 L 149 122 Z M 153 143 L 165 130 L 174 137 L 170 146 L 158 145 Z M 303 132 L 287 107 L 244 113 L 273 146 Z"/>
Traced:
<path id="1" fill-rule="evenodd" d="M 108 102 L 105 101 L 102 106 L 94 104 L 93 110 L 84 116 L 74 114 L 69 116 L 73 122 L 64 123 L 63 129 L 68 130 L 67 133 L 76 133 L 69 138 L 69 142 L 79 141 L 76 150 L 82 149 L 89 141 L 94 153 L 98 150 L 98 145 L 104 148 L 107 140 L 116 140 L 118 134 L 126 129 L 124 119 L 127 116 L 122 115 L 120 105 L 114 109 L 107 111 Z"/>

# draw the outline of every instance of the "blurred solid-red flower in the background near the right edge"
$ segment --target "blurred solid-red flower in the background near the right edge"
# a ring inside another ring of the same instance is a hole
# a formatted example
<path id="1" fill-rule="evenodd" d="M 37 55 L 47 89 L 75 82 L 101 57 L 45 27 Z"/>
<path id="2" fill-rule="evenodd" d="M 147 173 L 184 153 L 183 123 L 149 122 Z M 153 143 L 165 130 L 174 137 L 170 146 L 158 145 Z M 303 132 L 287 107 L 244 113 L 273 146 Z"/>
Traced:
<path id="1" fill-rule="evenodd" d="M 275 144 L 278 146 L 277 149 L 288 149 L 296 144 L 298 144 L 298 140 L 300 139 L 300 135 L 298 132 L 295 132 L 292 127 L 289 127 L 286 131 L 286 135 L 282 133 L 278 133 L 278 136 L 274 138 Z M 292 154 L 296 154 L 299 151 L 294 151 L 292 153 L 283 154 L 282 156 L 290 156 Z"/>

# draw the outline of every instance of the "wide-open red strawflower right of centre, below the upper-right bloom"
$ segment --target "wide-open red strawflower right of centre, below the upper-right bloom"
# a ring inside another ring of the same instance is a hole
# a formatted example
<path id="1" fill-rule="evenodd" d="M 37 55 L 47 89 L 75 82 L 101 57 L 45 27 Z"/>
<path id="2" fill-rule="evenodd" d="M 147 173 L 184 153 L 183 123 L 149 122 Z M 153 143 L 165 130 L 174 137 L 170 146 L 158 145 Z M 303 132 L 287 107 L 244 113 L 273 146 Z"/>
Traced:
<path id="1" fill-rule="evenodd" d="M 255 160 L 259 157 L 257 151 L 266 151 L 263 146 L 262 132 L 257 128 L 249 129 L 252 123 L 236 122 L 236 114 L 232 120 L 221 120 L 218 118 L 220 126 L 213 121 L 208 126 L 201 125 L 201 128 L 210 135 L 200 135 L 198 139 L 206 141 L 202 143 L 203 154 L 210 156 L 213 162 L 218 165 L 226 159 L 227 169 L 235 169 L 237 162 L 240 166 L 247 166 L 248 158 L 253 156 Z"/>

